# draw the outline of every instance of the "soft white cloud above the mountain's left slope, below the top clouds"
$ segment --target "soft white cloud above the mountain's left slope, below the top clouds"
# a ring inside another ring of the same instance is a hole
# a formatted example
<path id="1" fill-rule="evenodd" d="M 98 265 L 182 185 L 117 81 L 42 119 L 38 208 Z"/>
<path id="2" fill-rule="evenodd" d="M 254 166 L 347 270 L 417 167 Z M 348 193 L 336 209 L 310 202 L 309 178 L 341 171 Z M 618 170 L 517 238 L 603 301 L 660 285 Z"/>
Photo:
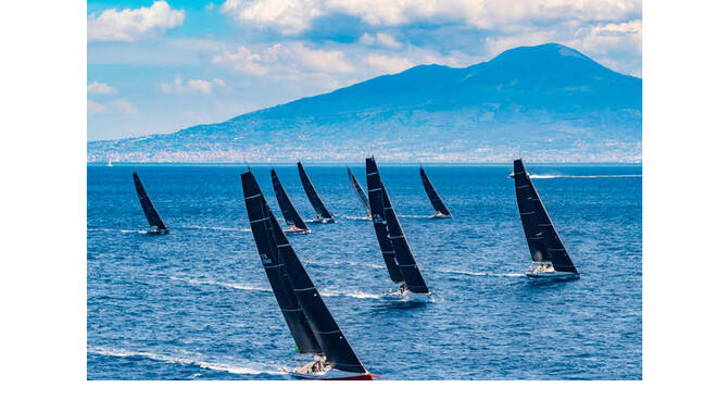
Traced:
<path id="1" fill-rule="evenodd" d="M 354 72 L 345 54 L 339 50 L 311 49 L 302 42 L 277 43 L 267 48 L 251 50 L 239 46 L 235 51 L 224 51 L 212 59 L 237 73 L 291 78 L 305 73 Z"/>

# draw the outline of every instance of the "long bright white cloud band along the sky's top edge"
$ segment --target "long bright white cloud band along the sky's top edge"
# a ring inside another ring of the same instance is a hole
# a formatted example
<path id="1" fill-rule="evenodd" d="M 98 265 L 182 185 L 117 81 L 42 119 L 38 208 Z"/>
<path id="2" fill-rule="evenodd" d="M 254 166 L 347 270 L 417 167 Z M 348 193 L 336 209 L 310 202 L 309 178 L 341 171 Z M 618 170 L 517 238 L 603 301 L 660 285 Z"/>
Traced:
<path id="1" fill-rule="evenodd" d="M 294 35 L 324 15 L 345 14 L 375 26 L 460 23 L 481 29 L 578 20 L 605 22 L 640 15 L 640 0 L 227 0 L 222 12 L 240 23 Z"/>

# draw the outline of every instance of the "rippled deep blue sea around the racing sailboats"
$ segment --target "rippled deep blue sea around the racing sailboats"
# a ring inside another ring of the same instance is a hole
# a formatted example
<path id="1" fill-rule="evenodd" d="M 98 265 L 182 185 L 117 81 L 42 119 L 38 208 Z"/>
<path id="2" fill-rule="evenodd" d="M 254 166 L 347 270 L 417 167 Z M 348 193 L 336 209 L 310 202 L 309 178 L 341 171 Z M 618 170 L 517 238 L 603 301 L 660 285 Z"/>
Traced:
<path id="1" fill-rule="evenodd" d="M 382 379 L 641 379 L 642 170 L 527 168 L 581 273 L 538 283 L 511 165 L 379 170 L 435 301 L 410 303 L 383 265 L 344 166 L 305 165 L 336 224 L 289 235 L 356 354 Z M 294 165 L 277 174 L 305 220 Z M 352 166 L 365 188 L 363 165 Z M 244 166 L 88 165 L 88 379 L 288 379 L 298 354 L 249 229 Z M 269 167 L 252 167 L 280 215 Z M 147 236 L 137 172 L 171 229 Z"/>

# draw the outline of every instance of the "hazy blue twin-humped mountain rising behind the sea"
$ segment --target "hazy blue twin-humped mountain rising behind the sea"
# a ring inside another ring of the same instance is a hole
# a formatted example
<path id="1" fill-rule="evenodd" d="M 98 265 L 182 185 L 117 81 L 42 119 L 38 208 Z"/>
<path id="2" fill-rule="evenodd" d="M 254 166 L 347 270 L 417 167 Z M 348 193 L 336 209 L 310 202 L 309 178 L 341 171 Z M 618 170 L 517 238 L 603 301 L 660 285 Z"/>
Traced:
<path id="1" fill-rule="evenodd" d="M 88 161 L 641 160 L 642 79 L 549 43 L 419 65 L 168 135 L 88 142 Z"/>

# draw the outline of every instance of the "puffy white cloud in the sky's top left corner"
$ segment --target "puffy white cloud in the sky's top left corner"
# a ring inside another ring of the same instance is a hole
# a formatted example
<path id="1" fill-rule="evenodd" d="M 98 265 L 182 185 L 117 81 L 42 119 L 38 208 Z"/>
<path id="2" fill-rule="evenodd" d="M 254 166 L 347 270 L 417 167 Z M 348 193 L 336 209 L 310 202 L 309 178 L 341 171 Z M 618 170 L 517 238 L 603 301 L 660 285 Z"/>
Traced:
<path id="1" fill-rule="evenodd" d="M 184 10 L 173 10 L 166 1 L 155 1 L 151 7 L 109 9 L 87 18 L 88 41 L 135 41 L 152 34 L 181 25 Z"/>

